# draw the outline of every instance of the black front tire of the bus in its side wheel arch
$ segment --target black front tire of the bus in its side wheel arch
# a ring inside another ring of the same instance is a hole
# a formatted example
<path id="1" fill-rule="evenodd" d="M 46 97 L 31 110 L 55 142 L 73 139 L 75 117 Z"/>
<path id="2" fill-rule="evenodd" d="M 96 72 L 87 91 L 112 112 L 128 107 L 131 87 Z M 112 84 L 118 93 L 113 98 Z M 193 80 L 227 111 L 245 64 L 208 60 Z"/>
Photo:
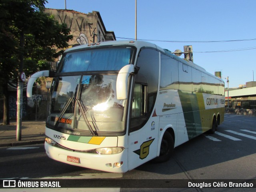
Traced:
<path id="1" fill-rule="evenodd" d="M 168 161 L 172 156 L 173 149 L 174 140 L 172 135 L 166 131 L 161 141 L 160 154 L 158 157 L 154 158 L 153 162 L 161 163 Z"/>

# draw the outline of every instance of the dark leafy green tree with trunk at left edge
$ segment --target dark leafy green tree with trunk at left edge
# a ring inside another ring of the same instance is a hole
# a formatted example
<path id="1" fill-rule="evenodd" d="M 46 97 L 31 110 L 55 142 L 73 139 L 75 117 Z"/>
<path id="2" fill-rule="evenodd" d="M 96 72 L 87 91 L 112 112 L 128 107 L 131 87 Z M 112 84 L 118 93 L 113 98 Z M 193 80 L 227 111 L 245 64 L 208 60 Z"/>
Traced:
<path id="1" fill-rule="evenodd" d="M 46 15 L 46 0 L 0 0 L 0 90 L 4 98 L 3 124 L 8 118 L 8 82 L 21 72 L 30 76 L 49 70 L 73 38 L 66 24 Z"/>

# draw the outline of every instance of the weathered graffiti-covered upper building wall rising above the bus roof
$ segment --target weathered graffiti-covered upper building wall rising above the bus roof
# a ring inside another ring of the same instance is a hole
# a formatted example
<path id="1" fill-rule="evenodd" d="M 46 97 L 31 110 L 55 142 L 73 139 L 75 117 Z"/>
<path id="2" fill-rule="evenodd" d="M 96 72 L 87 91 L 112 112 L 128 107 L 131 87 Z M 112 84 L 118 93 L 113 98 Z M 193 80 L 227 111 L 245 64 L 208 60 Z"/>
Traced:
<path id="1" fill-rule="evenodd" d="M 116 40 L 114 32 L 106 30 L 97 11 L 85 14 L 74 10 L 46 8 L 44 12 L 53 15 L 60 24 L 65 23 L 70 28 L 70 34 L 74 38 L 68 43 L 69 47 Z"/>

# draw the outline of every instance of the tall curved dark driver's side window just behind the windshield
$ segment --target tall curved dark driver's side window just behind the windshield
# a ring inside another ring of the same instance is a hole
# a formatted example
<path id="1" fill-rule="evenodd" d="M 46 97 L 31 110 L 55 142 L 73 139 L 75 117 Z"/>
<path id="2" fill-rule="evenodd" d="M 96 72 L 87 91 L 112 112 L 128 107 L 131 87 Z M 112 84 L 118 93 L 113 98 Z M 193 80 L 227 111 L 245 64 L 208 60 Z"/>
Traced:
<path id="1" fill-rule="evenodd" d="M 140 70 L 134 76 L 130 132 L 142 128 L 154 109 L 158 89 L 159 52 L 142 49 L 136 66 Z"/>

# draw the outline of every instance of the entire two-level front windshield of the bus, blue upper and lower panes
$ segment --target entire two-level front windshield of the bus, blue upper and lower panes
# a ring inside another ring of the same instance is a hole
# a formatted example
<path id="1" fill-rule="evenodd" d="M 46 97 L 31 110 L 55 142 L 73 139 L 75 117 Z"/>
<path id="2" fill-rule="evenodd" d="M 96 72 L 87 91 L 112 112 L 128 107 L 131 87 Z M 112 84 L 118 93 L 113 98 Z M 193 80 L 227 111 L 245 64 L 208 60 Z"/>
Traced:
<path id="1" fill-rule="evenodd" d="M 115 46 L 64 54 L 52 82 L 47 126 L 85 135 L 124 132 L 126 100 L 116 98 L 116 79 L 134 52 Z"/>

